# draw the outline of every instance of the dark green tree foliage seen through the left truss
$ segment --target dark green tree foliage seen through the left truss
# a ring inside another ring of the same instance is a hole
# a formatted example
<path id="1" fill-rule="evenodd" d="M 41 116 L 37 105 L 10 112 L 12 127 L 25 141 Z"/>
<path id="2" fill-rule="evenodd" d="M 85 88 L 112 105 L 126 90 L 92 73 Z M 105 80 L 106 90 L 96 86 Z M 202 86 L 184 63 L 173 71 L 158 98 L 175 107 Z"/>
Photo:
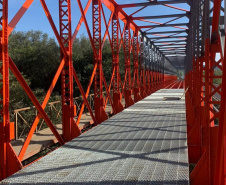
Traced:
<path id="1" fill-rule="evenodd" d="M 55 39 L 50 38 L 41 31 L 13 32 L 9 37 L 9 53 L 38 99 L 42 101 L 60 64 L 60 48 Z M 123 48 L 120 50 L 119 60 L 123 81 Z M 108 40 L 105 41 L 102 49 L 102 63 L 106 81 L 110 82 L 112 75 L 112 51 Z M 73 45 L 73 65 L 84 90 L 86 90 L 93 72 L 93 49 L 89 38 L 81 36 L 75 40 Z M 20 106 L 23 106 L 23 102 L 24 106 L 31 105 L 15 77 L 11 77 L 10 84 L 12 91 L 11 100 L 14 103 L 17 102 Z M 76 83 L 74 84 L 74 92 L 75 96 L 80 95 Z M 60 80 L 58 80 L 55 93 L 61 94 Z"/>

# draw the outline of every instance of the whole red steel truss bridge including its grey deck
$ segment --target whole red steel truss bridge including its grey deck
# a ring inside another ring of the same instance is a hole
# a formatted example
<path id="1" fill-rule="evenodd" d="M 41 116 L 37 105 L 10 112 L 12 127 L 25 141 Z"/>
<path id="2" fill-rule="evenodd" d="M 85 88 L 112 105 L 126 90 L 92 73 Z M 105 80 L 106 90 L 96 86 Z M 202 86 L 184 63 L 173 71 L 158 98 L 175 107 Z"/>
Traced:
<path id="1" fill-rule="evenodd" d="M 34 0 L 24 0 L 12 19 L 10 1 L 0 0 L 0 184 L 226 185 L 225 1 L 57 0 L 52 2 L 58 6 L 56 18 L 48 0 L 40 0 L 61 61 L 43 102 L 8 52 L 10 34 Z M 72 59 L 82 26 L 93 50 L 87 89 Z M 102 62 L 106 41 L 112 53 L 109 81 Z M 18 152 L 15 121 L 10 120 L 11 73 L 37 112 Z M 46 109 L 58 80 L 61 131 Z M 82 97 L 79 105 L 75 86 Z M 82 133 L 85 109 L 93 128 Z M 25 166 L 29 146 L 39 143 L 33 136 L 40 120 L 60 147 Z"/>

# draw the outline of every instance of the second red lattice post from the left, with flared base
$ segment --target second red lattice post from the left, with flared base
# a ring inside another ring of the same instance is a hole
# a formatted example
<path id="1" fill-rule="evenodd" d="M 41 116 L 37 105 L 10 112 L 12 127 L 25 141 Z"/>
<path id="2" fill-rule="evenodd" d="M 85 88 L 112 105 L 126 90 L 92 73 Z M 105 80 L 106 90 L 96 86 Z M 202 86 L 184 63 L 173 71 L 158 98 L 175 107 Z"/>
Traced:
<path id="1" fill-rule="evenodd" d="M 63 137 L 66 141 L 70 141 L 80 135 L 80 130 L 74 121 L 76 106 L 73 102 L 71 0 L 59 0 L 59 17 L 60 37 L 67 51 L 67 56 L 61 52 L 61 60 L 65 58 L 61 74 Z"/>

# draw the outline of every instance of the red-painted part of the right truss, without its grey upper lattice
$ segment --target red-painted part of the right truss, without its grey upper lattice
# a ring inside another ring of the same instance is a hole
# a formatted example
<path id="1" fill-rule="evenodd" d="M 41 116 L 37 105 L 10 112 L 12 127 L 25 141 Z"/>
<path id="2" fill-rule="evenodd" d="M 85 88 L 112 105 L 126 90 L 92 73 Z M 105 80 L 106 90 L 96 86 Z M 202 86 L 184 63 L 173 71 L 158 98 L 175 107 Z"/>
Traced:
<path id="1" fill-rule="evenodd" d="M 191 184 L 226 184 L 225 165 L 225 68 L 218 33 L 221 1 L 214 1 L 212 35 L 205 41 L 205 56 L 193 58 L 193 70 L 186 75 L 186 110 L 188 122 L 189 160 L 196 163 L 191 173 Z M 220 59 L 216 61 L 216 53 Z M 224 55 L 225 56 L 225 55 Z M 222 76 L 214 74 L 215 67 Z M 213 79 L 222 78 L 217 86 Z M 203 88 L 205 87 L 205 89 Z M 220 90 L 222 89 L 222 90 Z M 214 100 L 218 93 L 221 100 Z M 214 105 L 220 104 L 219 112 Z M 219 120 L 219 126 L 214 120 Z"/>

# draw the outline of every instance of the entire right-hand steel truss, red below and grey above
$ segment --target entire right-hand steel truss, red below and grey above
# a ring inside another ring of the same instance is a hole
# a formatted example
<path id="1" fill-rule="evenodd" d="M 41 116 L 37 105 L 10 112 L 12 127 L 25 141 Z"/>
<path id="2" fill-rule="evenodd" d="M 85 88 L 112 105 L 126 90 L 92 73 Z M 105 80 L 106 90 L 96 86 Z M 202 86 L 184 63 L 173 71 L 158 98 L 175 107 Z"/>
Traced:
<path id="1" fill-rule="evenodd" d="M 215 0 L 213 8 L 209 0 L 194 1 L 191 6 L 185 77 L 189 161 L 196 164 L 190 176 L 191 184 L 222 185 L 226 184 L 226 86 L 223 85 L 226 68 L 219 18 L 224 8 L 221 0 Z M 215 69 L 221 75 L 216 75 Z M 215 84 L 215 79 L 221 79 L 222 83 Z"/>

